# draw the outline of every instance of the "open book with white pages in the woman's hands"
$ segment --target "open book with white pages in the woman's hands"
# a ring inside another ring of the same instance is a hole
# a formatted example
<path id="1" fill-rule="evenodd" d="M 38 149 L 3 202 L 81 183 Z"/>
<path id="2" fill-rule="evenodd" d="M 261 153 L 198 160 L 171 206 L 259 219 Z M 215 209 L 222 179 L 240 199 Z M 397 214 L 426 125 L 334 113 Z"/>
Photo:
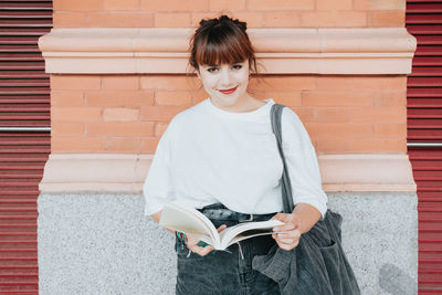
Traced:
<path id="1" fill-rule="evenodd" d="M 203 213 L 179 201 L 167 203 L 159 220 L 159 225 L 199 238 L 217 250 L 225 250 L 231 244 L 249 238 L 272 234 L 272 228 L 281 224 L 284 223 L 278 220 L 252 221 L 218 232 Z"/>

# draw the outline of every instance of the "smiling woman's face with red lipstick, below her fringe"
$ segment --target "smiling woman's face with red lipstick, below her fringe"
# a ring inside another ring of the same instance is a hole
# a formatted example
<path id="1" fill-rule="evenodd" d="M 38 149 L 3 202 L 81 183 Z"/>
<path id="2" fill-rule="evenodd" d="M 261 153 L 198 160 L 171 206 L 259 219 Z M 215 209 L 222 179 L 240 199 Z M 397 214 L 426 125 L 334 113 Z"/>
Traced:
<path id="1" fill-rule="evenodd" d="M 248 97 L 249 60 L 221 65 L 200 65 L 198 77 L 206 92 L 219 107 L 232 109 Z"/>

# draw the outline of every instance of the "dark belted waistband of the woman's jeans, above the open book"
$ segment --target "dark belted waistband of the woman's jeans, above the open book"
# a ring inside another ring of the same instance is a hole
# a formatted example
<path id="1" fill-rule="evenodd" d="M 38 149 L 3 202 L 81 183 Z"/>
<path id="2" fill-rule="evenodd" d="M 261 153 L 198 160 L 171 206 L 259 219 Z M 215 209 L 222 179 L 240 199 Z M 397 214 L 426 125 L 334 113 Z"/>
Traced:
<path id="1" fill-rule="evenodd" d="M 249 221 L 265 221 L 274 217 L 277 212 L 274 213 L 265 213 L 265 214 L 249 214 L 241 213 L 236 211 L 232 211 L 224 207 L 222 203 L 213 203 L 206 206 L 201 209 L 198 209 L 209 219 L 219 219 L 219 220 L 231 220 L 238 222 L 249 222 Z"/>

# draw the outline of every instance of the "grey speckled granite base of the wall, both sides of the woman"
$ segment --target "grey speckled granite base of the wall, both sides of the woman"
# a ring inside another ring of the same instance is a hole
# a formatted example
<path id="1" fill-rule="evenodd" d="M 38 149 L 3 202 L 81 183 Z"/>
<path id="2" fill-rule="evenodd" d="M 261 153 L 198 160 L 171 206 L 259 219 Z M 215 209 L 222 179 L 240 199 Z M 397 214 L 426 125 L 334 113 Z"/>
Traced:
<path id="1" fill-rule="evenodd" d="M 415 193 L 327 194 L 362 294 L 417 294 Z M 141 194 L 43 193 L 38 209 L 40 294 L 173 294 L 175 240 Z"/>

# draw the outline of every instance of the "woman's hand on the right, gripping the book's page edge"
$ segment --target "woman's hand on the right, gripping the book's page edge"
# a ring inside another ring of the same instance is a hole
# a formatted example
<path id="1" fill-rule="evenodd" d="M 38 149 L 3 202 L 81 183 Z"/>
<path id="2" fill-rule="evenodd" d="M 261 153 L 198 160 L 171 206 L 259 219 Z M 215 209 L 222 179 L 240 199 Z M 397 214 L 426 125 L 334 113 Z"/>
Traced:
<path id="1" fill-rule="evenodd" d="M 277 213 L 272 219 L 277 219 L 285 223 L 273 228 L 272 238 L 275 239 L 277 245 L 287 251 L 296 247 L 301 238 L 299 218 L 293 213 Z"/>

